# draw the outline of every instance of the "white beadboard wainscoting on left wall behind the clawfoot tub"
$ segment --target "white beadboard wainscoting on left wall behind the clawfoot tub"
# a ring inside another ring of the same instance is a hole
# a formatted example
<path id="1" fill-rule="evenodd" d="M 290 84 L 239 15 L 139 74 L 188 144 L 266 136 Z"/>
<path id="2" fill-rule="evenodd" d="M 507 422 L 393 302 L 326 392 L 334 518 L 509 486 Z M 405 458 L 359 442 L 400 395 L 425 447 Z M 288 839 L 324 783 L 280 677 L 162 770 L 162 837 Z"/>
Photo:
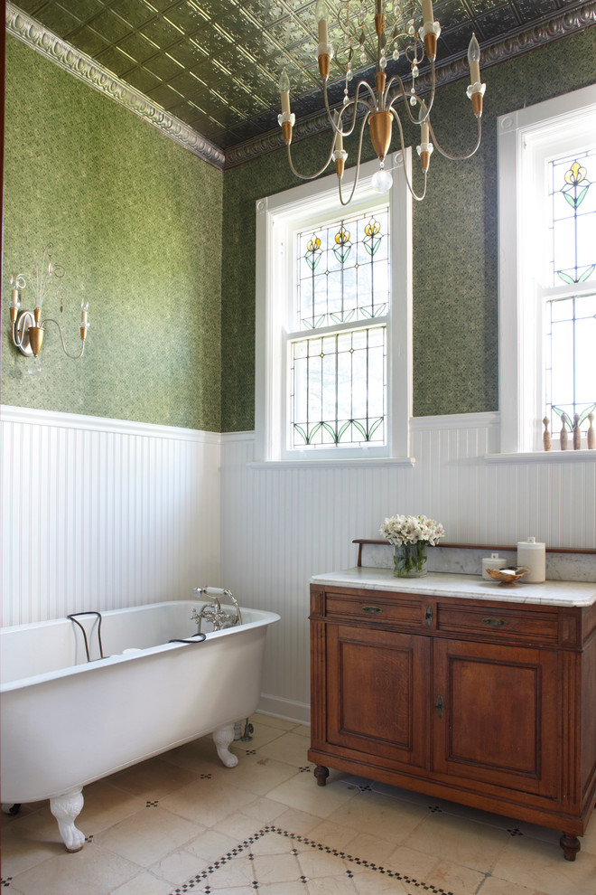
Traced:
<path id="1" fill-rule="evenodd" d="M 2 625 L 219 584 L 220 437 L 3 406 Z"/>

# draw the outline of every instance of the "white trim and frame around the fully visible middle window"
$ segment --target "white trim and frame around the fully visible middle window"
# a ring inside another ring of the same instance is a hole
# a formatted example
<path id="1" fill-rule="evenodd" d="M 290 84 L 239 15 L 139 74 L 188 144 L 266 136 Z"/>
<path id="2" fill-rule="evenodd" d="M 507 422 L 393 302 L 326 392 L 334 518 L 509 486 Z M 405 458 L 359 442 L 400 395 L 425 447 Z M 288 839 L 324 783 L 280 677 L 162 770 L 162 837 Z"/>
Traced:
<path id="1" fill-rule="evenodd" d="M 405 164 L 410 175 L 411 153 L 406 150 Z M 256 202 L 256 382 L 255 429 L 256 465 L 353 466 L 365 463 L 405 463 L 409 457 L 410 419 L 412 417 L 412 199 L 405 184 L 401 152 L 387 156 L 386 169 L 393 170 L 394 183 L 388 195 L 379 197 L 371 186 L 377 160 L 360 166 L 359 187 L 354 199 L 342 211 L 338 198 L 337 175 L 301 184 L 284 193 L 276 193 Z M 350 171 L 346 174 L 350 183 Z M 344 189 L 344 193 L 347 192 Z M 293 451 L 284 459 L 284 369 L 280 333 L 284 306 L 277 284 L 286 276 L 288 259 L 284 231 L 295 225 L 301 215 L 321 209 L 321 217 L 337 220 L 358 213 L 371 200 L 388 200 L 391 227 L 391 315 L 387 327 L 387 408 L 389 431 L 386 448 L 337 449 L 329 452 Z"/>

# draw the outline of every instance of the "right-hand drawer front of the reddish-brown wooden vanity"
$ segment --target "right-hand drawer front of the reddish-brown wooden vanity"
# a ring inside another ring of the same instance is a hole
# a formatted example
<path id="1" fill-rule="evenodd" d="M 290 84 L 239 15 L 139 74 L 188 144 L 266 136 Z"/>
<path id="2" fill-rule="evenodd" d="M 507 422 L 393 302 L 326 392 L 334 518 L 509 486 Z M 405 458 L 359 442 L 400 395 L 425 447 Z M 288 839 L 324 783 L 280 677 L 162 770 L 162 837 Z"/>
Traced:
<path id="1" fill-rule="evenodd" d="M 483 640 L 524 640 L 536 644 L 556 644 L 559 617 L 553 608 L 519 609 L 506 606 L 467 607 L 440 602 L 437 630 L 459 636 L 481 635 Z"/>

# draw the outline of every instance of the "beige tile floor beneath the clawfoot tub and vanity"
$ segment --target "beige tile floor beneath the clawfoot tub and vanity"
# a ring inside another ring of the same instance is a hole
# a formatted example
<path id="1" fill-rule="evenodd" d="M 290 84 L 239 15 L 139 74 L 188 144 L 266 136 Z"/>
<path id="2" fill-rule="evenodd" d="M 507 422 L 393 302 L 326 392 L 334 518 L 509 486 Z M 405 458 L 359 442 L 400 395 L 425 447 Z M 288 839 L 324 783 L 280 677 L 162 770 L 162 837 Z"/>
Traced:
<path id="1" fill-rule="evenodd" d="M 210 738 L 85 787 L 66 853 L 48 803 L 3 815 L 6 895 L 596 895 L 596 820 L 559 834 L 331 771 L 309 728 L 256 715 L 224 768 Z"/>

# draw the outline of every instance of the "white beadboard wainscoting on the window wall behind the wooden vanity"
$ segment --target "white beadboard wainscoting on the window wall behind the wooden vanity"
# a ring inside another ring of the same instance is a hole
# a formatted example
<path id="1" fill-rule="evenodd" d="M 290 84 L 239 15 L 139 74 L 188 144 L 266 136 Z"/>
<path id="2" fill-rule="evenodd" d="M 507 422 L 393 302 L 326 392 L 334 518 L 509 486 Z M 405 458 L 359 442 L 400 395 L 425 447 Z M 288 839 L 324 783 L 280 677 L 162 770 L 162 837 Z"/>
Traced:
<path id="1" fill-rule="evenodd" d="M 386 515 L 426 513 L 449 542 L 596 547 L 596 452 L 489 461 L 498 438 L 497 413 L 418 418 L 414 466 L 306 468 L 251 465 L 253 433 L 222 437 L 221 584 L 282 617 L 262 709 L 309 721 L 309 578 L 355 565 L 352 540 L 379 538 Z"/>

